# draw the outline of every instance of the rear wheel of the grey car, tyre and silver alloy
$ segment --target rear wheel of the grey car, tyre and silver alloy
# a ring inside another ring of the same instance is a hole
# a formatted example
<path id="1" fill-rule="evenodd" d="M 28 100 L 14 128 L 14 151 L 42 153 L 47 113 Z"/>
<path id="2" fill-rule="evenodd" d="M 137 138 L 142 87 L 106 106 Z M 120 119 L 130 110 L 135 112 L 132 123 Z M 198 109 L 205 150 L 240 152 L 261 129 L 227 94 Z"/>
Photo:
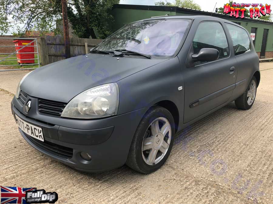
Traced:
<path id="1" fill-rule="evenodd" d="M 244 93 L 235 100 L 235 105 L 238 109 L 242 110 L 248 110 L 251 108 L 255 101 L 256 97 L 256 92 L 257 92 L 257 80 L 255 76 L 252 77 L 248 88 L 244 91 Z"/>

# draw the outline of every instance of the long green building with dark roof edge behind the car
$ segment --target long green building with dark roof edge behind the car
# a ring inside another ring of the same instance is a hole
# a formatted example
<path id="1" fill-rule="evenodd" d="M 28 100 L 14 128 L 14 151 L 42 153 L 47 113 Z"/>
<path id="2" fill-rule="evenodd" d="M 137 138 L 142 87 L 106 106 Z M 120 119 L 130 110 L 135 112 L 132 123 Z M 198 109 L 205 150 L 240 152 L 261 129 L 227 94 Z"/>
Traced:
<path id="1" fill-rule="evenodd" d="M 176 6 L 149 6 L 116 4 L 113 7 L 113 29 L 118 30 L 124 24 L 145 18 L 164 15 L 210 15 L 224 18 L 246 28 L 251 33 L 255 50 L 261 59 L 273 58 L 273 22 L 252 18 L 234 18 L 229 15 L 200 11 Z"/>

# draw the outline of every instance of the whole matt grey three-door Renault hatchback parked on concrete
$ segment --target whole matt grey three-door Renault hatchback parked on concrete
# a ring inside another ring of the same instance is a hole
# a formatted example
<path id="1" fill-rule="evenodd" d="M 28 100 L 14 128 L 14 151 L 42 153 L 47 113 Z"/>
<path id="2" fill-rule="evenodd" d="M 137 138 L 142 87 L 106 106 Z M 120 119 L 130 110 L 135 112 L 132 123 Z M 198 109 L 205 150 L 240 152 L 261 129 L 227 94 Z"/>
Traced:
<path id="1" fill-rule="evenodd" d="M 28 73 L 11 108 L 23 138 L 63 164 L 151 173 L 169 157 L 176 132 L 233 101 L 251 108 L 259 82 L 243 27 L 163 16 L 127 24 L 86 55 Z"/>

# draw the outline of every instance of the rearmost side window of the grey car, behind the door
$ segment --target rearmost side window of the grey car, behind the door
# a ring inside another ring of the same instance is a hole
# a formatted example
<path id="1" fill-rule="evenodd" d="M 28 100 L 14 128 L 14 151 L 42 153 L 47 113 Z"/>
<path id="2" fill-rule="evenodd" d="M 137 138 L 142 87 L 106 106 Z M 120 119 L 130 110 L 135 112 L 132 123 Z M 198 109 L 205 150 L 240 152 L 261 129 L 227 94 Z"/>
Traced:
<path id="1" fill-rule="evenodd" d="M 243 54 L 251 50 L 251 43 L 247 31 L 227 24 L 227 29 L 231 35 L 235 55 Z"/>

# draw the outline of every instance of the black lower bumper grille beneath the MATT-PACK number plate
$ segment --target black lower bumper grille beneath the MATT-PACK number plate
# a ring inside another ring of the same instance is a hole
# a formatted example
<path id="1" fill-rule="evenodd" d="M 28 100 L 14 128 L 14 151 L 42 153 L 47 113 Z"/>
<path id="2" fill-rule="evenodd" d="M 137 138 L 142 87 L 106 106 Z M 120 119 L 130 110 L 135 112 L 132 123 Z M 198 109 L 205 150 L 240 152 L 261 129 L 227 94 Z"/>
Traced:
<path id="1" fill-rule="evenodd" d="M 25 135 L 32 143 L 34 143 L 36 146 L 42 148 L 45 151 L 48 151 L 52 154 L 55 154 L 57 156 L 64 157 L 67 159 L 70 159 L 73 156 L 73 149 L 72 148 L 64 147 L 59 144 L 54 144 L 49 141 L 42 142 L 40 140 L 32 138 L 31 136 L 29 136 L 27 134 L 25 134 Z"/>

